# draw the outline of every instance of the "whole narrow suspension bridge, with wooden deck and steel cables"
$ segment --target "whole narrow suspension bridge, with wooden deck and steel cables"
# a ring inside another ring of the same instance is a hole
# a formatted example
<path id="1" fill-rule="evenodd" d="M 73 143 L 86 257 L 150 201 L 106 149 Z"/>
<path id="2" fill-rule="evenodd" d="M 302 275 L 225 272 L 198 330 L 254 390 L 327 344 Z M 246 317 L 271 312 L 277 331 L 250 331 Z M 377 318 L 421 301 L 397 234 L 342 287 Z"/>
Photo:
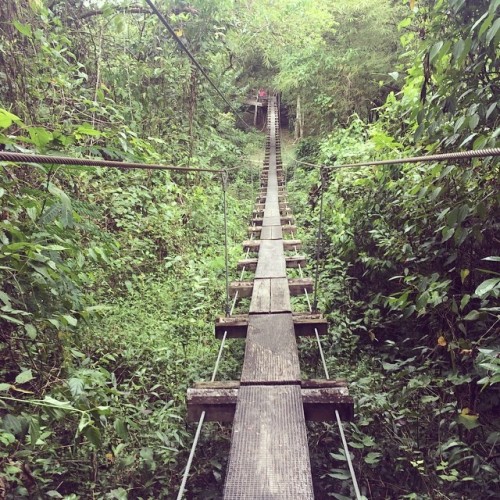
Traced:
<path id="1" fill-rule="evenodd" d="M 146 2 L 228 109 L 245 123 L 233 103 L 226 99 L 184 46 L 152 0 Z M 255 108 L 255 124 L 259 102 L 255 100 L 248 104 Z M 277 97 L 270 96 L 267 102 L 267 142 L 261 170 L 261 190 L 253 210 L 252 224 L 248 228 L 249 239 L 242 242 L 245 258 L 238 262 L 237 266 L 241 277 L 239 281 L 228 282 L 226 254 L 226 289 L 228 297 L 232 297 L 232 306 L 227 307 L 226 316 L 216 320 L 215 335 L 221 341 L 219 353 L 211 380 L 195 384 L 187 393 L 188 420 L 198 422 L 198 426 L 178 491 L 178 500 L 185 496 L 190 467 L 205 421 L 232 422 L 231 449 L 223 491 L 225 499 L 314 498 L 307 421 L 336 422 L 353 481 L 354 496 L 357 499 L 362 498 L 342 426 L 342 421 L 353 418 L 353 399 L 349 395 L 345 380 L 329 378 L 321 348 L 321 336 L 328 333 L 328 324 L 316 310 L 316 300 L 311 303 L 309 299 L 309 294 L 313 290 L 314 293 L 317 291 L 317 274 L 315 280 L 304 277 L 303 274 L 306 257 L 299 254 L 301 241 L 295 237 L 296 227 L 287 203 L 279 127 Z M 321 170 L 359 168 L 486 156 L 500 156 L 500 149 L 460 151 L 347 165 L 312 166 Z M 137 168 L 209 172 L 222 175 L 224 193 L 227 183 L 226 171 L 211 168 L 126 163 L 12 151 L 0 151 L 0 161 L 124 170 Z M 320 233 L 321 216 L 319 236 Z M 298 270 L 298 278 L 288 277 L 287 270 L 291 268 Z M 253 273 L 253 280 L 244 281 L 243 277 L 249 272 Z M 309 311 L 305 313 L 292 310 L 290 297 L 299 294 L 306 297 Z M 243 298 L 250 298 L 248 314 L 233 315 L 236 303 Z M 301 336 L 316 338 L 325 371 L 324 379 L 301 378 L 296 341 L 297 337 Z M 228 339 L 245 341 L 241 377 L 237 381 L 216 381 L 224 344 Z"/>

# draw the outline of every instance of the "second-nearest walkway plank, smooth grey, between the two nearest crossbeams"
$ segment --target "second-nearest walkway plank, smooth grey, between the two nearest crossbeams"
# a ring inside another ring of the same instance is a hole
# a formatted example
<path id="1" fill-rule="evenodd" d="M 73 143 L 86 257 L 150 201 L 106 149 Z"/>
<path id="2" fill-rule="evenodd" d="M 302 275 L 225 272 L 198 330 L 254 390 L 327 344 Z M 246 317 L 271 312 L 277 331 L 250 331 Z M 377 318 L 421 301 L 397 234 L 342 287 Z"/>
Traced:
<path id="1" fill-rule="evenodd" d="M 299 381 L 299 357 L 291 313 L 250 315 L 242 385 L 298 384 Z"/>

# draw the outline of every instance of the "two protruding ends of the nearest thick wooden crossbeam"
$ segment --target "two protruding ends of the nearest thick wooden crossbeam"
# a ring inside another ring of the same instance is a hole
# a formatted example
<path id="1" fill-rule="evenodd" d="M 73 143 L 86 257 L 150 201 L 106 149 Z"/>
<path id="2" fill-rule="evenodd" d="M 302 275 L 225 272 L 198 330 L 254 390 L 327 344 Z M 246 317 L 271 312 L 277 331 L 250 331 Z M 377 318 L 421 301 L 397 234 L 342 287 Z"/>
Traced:
<path id="1" fill-rule="evenodd" d="M 335 421 L 335 410 L 338 410 L 342 420 L 352 420 L 354 405 L 346 382 L 330 380 L 324 382 L 331 382 L 331 384 L 325 387 L 302 385 L 300 393 L 305 419 L 315 422 Z M 204 411 L 206 412 L 205 420 L 208 422 L 232 422 L 239 388 L 238 380 L 197 382 L 187 391 L 187 420 L 197 422 Z"/>

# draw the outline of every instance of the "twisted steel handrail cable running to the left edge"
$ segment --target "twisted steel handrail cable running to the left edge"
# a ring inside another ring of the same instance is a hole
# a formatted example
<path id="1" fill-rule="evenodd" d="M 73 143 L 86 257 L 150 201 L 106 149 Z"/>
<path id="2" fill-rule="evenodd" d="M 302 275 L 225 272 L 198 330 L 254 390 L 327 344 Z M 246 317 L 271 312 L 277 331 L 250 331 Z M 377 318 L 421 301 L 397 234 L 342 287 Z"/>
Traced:
<path id="1" fill-rule="evenodd" d="M 40 163 L 54 165 L 75 165 L 86 167 L 111 167 L 118 169 L 141 169 L 141 170 L 174 170 L 176 172 L 210 172 L 212 174 L 223 173 L 224 170 L 211 168 L 175 167 L 174 165 L 154 165 L 148 163 L 132 163 L 122 161 L 99 160 L 97 158 L 71 158 L 69 156 L 49 156 L 26 153 L 11 153 L 0 151 L 0 161 L 11 161 L 14 163 Z"/>

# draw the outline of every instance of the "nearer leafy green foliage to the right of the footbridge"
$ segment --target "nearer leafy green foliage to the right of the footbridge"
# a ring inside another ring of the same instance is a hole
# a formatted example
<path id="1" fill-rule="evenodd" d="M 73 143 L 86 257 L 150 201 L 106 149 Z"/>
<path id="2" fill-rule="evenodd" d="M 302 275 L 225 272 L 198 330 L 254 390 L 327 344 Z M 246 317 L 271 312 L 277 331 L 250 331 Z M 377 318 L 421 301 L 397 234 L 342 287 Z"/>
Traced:
<path id="1" fill-rule="evenodd" d="M 498 2 L 414 5 L 401 23 L 411 60 L 401 92 L 388 96 L 376 123 L 352 116 L 319 151 L 299 146 L 307 161 L 498 147 L 498 43 L 493 32 L 486 36 Z M 330 372 L 351 382 L 357 418 L 349 444 L 367 496 L 498 491 L 499 175 L 491 158 L 328 171 L 320 309 L 331 337 L 324 347 Z M 309 192 L 296 208 L 312 222 L 311 237 L 318 185 L 317 169 L 295 167 L 289 187 Z M 302 356 L 318 376 L 317 355 L 306 349 Z M 315 436 L 319 488 L 352 495 L 343 452 L 332 452 L 340 443 L 324 428 Z"/>

